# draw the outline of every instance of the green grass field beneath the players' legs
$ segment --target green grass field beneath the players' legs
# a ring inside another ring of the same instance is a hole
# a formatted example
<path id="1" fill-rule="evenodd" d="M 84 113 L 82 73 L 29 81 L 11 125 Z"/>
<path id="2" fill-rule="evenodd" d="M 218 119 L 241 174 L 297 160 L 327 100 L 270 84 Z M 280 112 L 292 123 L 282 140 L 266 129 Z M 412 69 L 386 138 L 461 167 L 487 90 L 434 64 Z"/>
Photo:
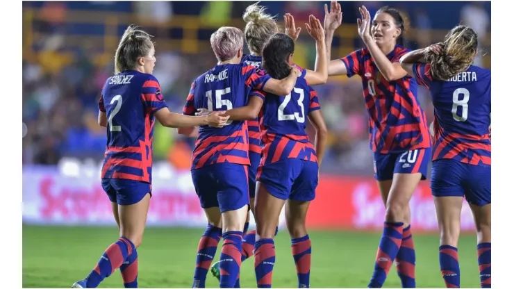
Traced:
<path id="1" fill-rule="evenodd" d="M 139 254 L 140 288 L 190 288 L 201 229 L 149 228 Z M 372 274 L 379 233 L 311 231 L 313 241 L 310 286 L 313 288 L 365 288 Z M 438 236 L 415 235 L 417 249 L 417 287 L 444 288 L 439 272 Z M 72 226 L 23 227 L 23 287 L 69 288 L 83 279 L 111 242 L 117 239 L 114 228 Z M 221 247 L 220 242 L 220 247 Z M 462 236 L 459 245 L 461 287 L 479 288 L 476 238 Z M 292 261 L 288 233 L 276 236 L 274 288 L 296 288 L 297 276 Z M 215 258 L 219 258 L 219 251 Z M 208 276 L 207 287 L 217 288 Z M 241 286 L 256 288 L 254 258 L 242 264 Z M 392 268 L 385 288 L 399 288 Z M 115 272 L 99 288 L 122 288 Z"/>

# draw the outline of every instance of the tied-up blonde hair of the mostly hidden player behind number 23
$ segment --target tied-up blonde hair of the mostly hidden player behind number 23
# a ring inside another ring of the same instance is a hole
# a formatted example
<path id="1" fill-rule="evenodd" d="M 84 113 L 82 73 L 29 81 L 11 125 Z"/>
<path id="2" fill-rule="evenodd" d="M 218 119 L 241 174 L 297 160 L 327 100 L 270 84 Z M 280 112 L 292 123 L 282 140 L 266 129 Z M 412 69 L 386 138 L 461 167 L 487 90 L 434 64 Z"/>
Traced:
<path id="1" fill-rule="evenodd" d="M 264 13 L 265 7 L 258 6 L 258 2 L 247 7 L 242 15 L 247 26 L 244 27 L 244 39 L 247 41 L 248 49 L 260 55 L 264 44 L 275 34 L 279 33 L 279 26 L 276 25 L 272 15 Z"/>

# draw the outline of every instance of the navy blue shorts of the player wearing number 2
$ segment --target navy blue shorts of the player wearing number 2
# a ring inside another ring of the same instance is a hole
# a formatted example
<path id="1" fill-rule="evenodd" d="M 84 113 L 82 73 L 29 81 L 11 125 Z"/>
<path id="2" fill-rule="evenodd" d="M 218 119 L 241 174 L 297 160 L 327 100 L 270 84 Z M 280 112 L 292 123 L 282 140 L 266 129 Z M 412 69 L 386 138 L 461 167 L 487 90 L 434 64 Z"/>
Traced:
<path id="1" fill-rule="evenodd" d="M 102 179 L 101 187 L 110 201 L 123 206 L 138 204 L 144 196 L 151 195 L 151 185 L 144 181 Z"/>

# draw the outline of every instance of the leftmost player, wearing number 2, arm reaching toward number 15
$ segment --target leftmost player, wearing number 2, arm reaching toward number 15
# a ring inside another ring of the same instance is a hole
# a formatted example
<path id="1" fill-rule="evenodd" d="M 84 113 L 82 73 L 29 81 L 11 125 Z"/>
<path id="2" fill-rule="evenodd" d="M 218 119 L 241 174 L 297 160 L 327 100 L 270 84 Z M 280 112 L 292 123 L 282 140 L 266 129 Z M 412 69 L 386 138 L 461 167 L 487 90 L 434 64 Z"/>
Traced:
<path id="1" fill-rule="evenodd" d="M 138 286 L 138 251 L 151 197 L 151 144 L 154 118 L 164 126 L 210 124 L 222 127 L 228 117 L 170 113 L 157 79 L 151 36 L 128 26 L 115 54 L 115 76 L 107 79 L 99 100 L 98 122 L 107 128 L 101 184 L 112 205 L 119 239 L 110 245 L 91 273 L 72 288 L 97 288 L 120 269 L 125 288 Z"/>

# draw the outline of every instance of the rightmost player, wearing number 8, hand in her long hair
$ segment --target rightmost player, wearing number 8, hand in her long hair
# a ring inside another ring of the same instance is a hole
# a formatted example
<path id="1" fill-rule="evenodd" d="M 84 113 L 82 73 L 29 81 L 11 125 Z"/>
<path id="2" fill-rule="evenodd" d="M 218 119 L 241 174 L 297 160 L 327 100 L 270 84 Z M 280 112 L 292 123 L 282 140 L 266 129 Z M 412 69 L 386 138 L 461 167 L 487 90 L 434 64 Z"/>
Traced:
<path id="1" fill-rule="evenodd" d="M 431 189 L 447 288 L 459 288 L 461 282 L 457 242 L 463 197 L 476 224 L 481 287 L 491 288 L 491 72 L 472 65 L 477 49 L 475 31 L 459 25 L 444 42 L 400 60 L 408 74 L 429 88 L 436 110 Z"/>

